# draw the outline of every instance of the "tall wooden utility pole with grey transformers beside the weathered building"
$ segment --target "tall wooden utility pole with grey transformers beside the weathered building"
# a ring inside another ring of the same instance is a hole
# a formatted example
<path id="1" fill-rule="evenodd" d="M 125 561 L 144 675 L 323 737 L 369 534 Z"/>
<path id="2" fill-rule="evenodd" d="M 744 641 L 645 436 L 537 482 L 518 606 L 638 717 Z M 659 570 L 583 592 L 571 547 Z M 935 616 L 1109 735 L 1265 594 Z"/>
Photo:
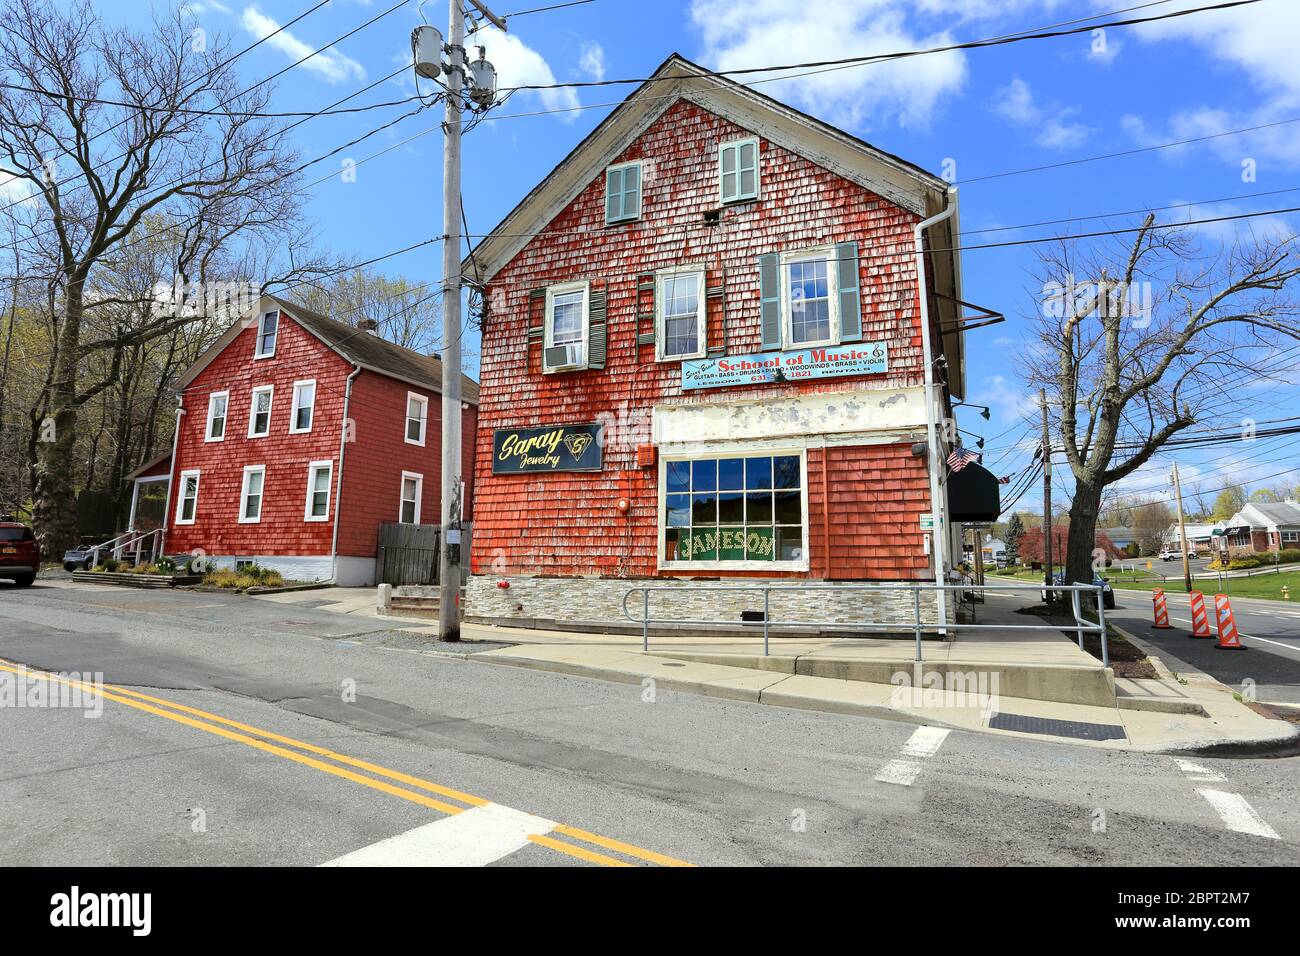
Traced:
<path id="1" fill-rule="evenodd" d="M 506 22 L 480 0 L 469 0 L 474 9 L 504 30 Z M 448 0 L 447 44 L 428 25 L 412 35 L 416 74 L 437 79 L 446 75 L 443 88 L 442 148 L 442 501 L 438 535 L 438 639 L 460 640 L 460 568 L 462 568 L 462 486 L 460 460 L 462 360 L 460 360 L 460 114 L 462 96 L 469 95 L 480 109 L 491 105 L 497 92 L 495 70 L 480 56 L 465 69 L 465 14 L 460 0 Z M 441 55 L 447 53 L 447 62 Z"/>

